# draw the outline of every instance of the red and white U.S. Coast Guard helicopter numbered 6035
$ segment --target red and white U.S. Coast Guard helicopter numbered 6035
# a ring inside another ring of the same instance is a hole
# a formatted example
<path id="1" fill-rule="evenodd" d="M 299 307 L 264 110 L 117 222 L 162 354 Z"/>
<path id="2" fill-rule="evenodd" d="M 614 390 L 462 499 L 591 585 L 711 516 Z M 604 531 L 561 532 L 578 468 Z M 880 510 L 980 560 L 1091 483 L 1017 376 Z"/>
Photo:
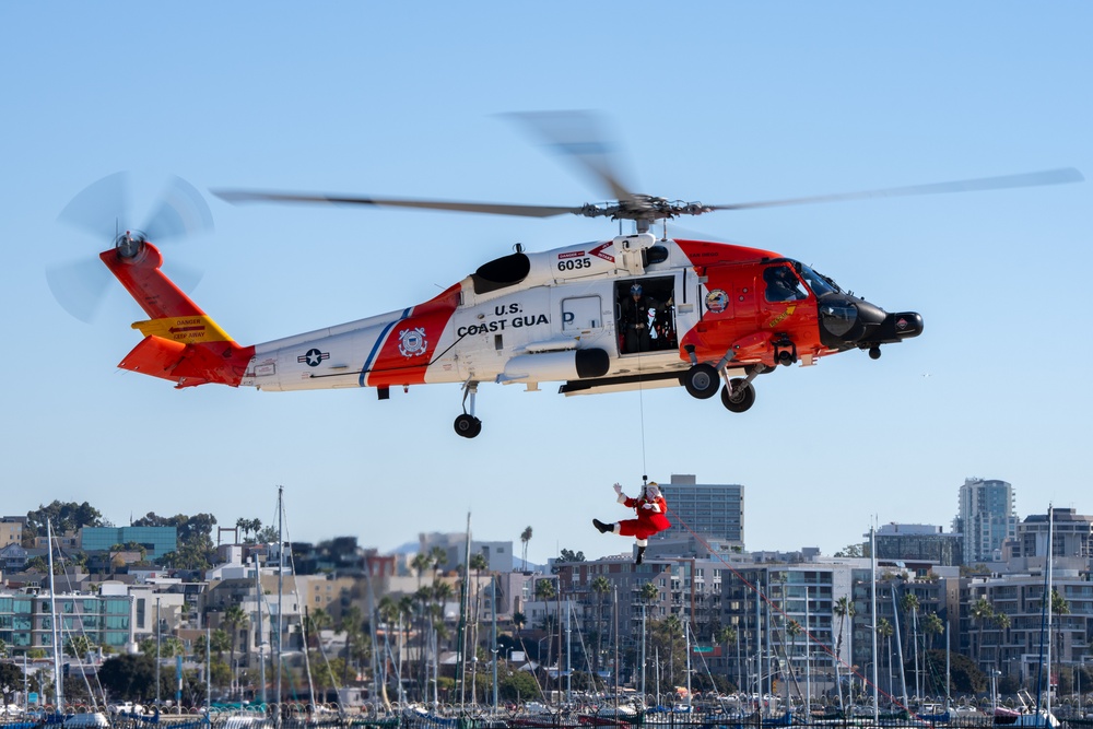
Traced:
<path id="1" fill-rule="evenodd" d="M 402 309 L 243 345 L 161 271 L 160 235 L 211 226 L 201 195 L 176 179 L 141 230 L 120 230 L 98 258 L 143 308 L 132 325 L 142 340 L 119 367 L 176 388 L 205 384 L 266 391 L 459 384 L 455 432 L 473 438 L 483 383 L 538 390 L 561 383 L 566 396 L 680 387 L 693 398 L 720 392 L 733 413 L 755 402 L 756 377 L 779 366 L 811 366 L 842 352 L 922 333 L 915 311 L 889 313 L 784 255 L 742 245 L 657 236 L 658 222 L 683 215 L 877 197 L 1055 185 L 1083 179 L 1073 168 L 952 183 L 732 204 L 672 201 L 632 191 L 615 173 L 595 117 L 584 113 L 516 115 L 573 160 L 613 200 L 575 207 L 459 202 L 216 189 L 232 203 L 334 203 L 549 217 L 574 214 L 633 221 L 634 232 L 481 264 L 433 298 Z M 92 188 L 118 185 L 105 178 Z M 102 190 L 89 188 L 61 213 L 86 222 Z M 90 227 L 85 225 L 85 227 Z M 666 226 L 667 227 L 667 226 Z M 50 279 L 55 293 L 61 277 Z"/>

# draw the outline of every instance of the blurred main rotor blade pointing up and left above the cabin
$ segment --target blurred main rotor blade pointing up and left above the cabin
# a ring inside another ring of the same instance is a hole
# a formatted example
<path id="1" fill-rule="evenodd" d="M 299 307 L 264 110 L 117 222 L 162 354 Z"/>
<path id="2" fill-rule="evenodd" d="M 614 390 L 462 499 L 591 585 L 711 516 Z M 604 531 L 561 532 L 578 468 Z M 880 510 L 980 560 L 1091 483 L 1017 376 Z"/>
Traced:
<path id="1" fill-rule="evenodd" d="M 602 124 L 591 111 L 526 111 L 503 115 L 515 119 L 546 142 L 548 149 L 591 173 L 598 186 L 606 186 L 610 197 L 620 202 L 634 193 L 618 174 L 619 157 L 603 133 Z"/>

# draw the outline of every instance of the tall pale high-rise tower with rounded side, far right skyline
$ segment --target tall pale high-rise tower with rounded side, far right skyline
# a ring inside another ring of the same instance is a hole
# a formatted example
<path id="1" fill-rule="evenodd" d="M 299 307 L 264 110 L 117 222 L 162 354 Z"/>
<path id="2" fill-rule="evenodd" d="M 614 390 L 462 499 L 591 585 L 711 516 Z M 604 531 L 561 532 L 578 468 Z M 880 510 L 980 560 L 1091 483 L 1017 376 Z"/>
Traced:
<path id="1" fill-rule="evenodd" d="M 964 564 L 1001 561 L 1002 542 L 1018 533 L 1013 486 L 1006 481 L 964 479 L 953 531 L 962 534 Z"/>

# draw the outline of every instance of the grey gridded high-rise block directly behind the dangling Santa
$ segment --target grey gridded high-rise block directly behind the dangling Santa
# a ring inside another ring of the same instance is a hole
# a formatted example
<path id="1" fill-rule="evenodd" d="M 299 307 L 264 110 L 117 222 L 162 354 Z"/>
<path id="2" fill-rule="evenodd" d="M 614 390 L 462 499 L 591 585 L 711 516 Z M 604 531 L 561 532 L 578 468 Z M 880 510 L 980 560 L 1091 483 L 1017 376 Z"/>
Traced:
<path id="1" fill-rule="evenodd" d="M 739 484 L 696 483 L 692 474 L 673 473 L 671 483 L 661 483 L 668 502 L 671 529 L 657 534 L 678 539 L 692 532 L 744 543 L 744 487 Z"/>

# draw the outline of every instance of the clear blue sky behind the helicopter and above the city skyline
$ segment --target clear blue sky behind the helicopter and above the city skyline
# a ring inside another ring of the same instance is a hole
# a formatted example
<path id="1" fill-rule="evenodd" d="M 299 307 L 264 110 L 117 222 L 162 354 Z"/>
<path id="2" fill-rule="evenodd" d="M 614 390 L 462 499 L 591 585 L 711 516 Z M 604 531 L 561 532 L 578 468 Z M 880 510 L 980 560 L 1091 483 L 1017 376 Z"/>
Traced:
<path id="1" fill-rule="evenodd" d="M 131 171 L 140 217 L 176 174 L 259 187 L 579 204 L 603 193 L 503 114 L 595 109 L 627 179 L 729 203 L 1074 166 L 1093 174 L 1093 5 L 1080 2 L 2 3 L 0 296 L 8 337 L 0 512 L 89 501 L 271 522 L 295 540 L 419 531 L 628 551 L 592 517 L 643 473 L 747 487 L 750 549 L 855 541 L 872 520 L 948 526 L 967 477 L 1093 513 L 1088 280 L 1093 184 L 720 213 L 685 223 L 773 249 L 889 310 L 917 340 L 759 383 L 743 415 L 682 389 L 563 398 L 483 386 L 175 391 L 116 369 L 143 318 L 115 286 L 92 325 L 45 270 L 98 240 L 57 222 Z M 233 208 L 165 247 L 192 296 L 256 343 L 419 303 L 519 242 L 610 237 L 595 220 Z M 143 207 L 142 207 L 143 205 Z"/>

